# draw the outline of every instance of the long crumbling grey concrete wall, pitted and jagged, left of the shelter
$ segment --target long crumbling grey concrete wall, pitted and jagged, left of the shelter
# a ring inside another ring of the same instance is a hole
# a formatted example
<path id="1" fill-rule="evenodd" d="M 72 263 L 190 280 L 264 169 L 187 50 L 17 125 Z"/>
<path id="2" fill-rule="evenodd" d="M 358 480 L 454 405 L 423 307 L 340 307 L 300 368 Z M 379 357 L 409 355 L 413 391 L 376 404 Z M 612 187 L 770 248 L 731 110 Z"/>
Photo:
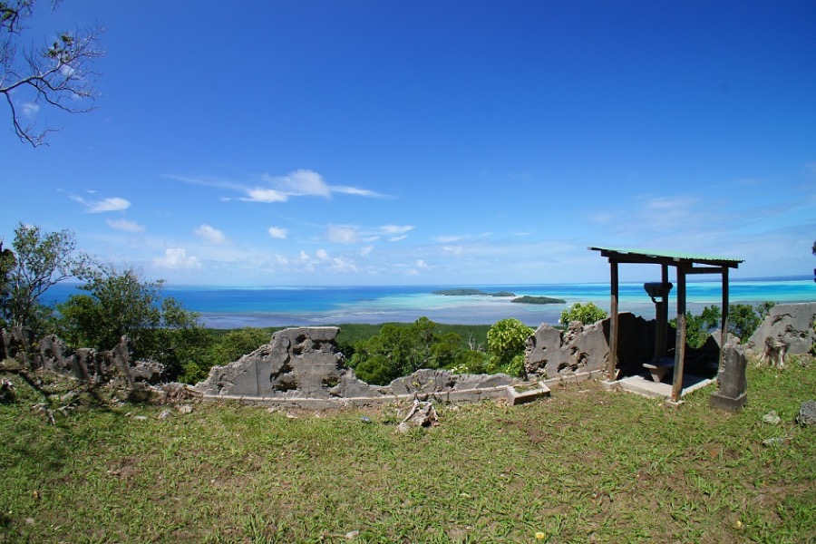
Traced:
<path id="1" fill-rule="evenodd" d="M 442 402 L 505 396 L 516 382 L 507 374 L 451 374 L 418 370 L 388 385 L 366 384 L 344 366 L 335 326 L 277 331 L 267 345 L 226 366 L 215 366 L 196 385 L 205 399 L 253 403 L 296 403 L 310 408 L 376 404 L 406 398 Z"/>

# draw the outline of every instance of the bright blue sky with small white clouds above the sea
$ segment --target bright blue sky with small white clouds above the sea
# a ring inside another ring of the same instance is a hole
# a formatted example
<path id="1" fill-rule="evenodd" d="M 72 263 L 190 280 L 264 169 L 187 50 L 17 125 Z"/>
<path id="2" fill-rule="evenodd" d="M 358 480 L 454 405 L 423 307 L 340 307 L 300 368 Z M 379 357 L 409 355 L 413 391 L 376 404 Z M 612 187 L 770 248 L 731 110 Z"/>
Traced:
<path id="1" fill-rule="evenodd" d="M 816 4 L 91 2 L 98 108 L 0 119 L 9 244 L 170 284 L 608 281 L 588 246 L 816 266 Z M 5 103 L 3 104 L 5 106 Z M 623 279 L 648 278 L 623 267 Z"/>

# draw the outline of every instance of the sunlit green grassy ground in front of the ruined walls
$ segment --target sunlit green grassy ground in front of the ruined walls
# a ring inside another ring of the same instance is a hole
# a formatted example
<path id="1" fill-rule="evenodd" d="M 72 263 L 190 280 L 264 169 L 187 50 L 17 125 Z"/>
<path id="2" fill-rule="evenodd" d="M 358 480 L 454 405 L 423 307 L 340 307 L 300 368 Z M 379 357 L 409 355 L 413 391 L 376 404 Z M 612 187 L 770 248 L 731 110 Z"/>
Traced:
<path id="1" fill-rule="evenodd" d="M 5 542 L 816 540 L 816 430 L 793 423 L 813 362 L 752 366 L 737 414 L 709 409 L 711 388 L 674 410 L 585 383 L 443 405 L 438 427 L 404 435 L 395 406 L 162 420 L 89 393 L 51 425 L 31 407 L 67 403 L 64 382 L 0 377 L 16 386 L 0 404 Z M 763 423 L 771 410 L 782 423 Z"/>

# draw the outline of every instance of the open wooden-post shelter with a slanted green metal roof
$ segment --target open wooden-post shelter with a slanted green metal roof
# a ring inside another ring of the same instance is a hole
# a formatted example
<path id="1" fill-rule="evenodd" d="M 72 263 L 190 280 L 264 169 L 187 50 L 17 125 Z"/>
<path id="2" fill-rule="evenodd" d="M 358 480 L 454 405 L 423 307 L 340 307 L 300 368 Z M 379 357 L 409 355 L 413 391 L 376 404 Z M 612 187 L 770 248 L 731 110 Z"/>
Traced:
<path id="1" fill-rule="evenodd" d="M 607 362 L 607 379 L 614 381 L 617 378 L 617 337 L 618 327 L 618 267 L 621 264 L 641 264 L 657 265 L 661 269 L 661 281 L 659 283 L 648 283 L 644 287 L 649 296 L 656 304 L 657 335 L 656 353 L 653 365 L 659 364 L 658 359 L 663 354 L 659 353 L 660 345 L 664 340 L 659 338 L 660 331 L 664 332 L 665 326 L 661 326 L 661 319 L 665 322 L 667 316 L 668 293 L 673 287 L 669 283 L 668 268 L 676 268 L 677 281 L 677 333 L 675 342 L 674 376 L 672 378 L 671 400 L 676 403 L 680 400 L 683 390 L 683 364 L 685 360 L 685 307 L 686 307 L 686 277 L 697 274 L 717 274 L 722 278 L 723 287 L 723 319 L 720 327 L 720 367 L 722 368 L 723 349 L 725 345 L 725 335 L 728 330 L 728 272 L 731 268 L 739 267 L 743 260 L 712 257 L 702 255 L 689 255 L 684 253 L 673 253 L 667 251 L 651 251 L 646 249 L 616 249 L 616 248 L 588 248 L 592 251 L 600 251 L 601 257 L 609 259 L 610 268 L 610 325 L 609 325 L 609 361 Z M 657 298 L 660 298 L 658 301 Z M 662 311 L 661 311 L 662 307 Z"/>

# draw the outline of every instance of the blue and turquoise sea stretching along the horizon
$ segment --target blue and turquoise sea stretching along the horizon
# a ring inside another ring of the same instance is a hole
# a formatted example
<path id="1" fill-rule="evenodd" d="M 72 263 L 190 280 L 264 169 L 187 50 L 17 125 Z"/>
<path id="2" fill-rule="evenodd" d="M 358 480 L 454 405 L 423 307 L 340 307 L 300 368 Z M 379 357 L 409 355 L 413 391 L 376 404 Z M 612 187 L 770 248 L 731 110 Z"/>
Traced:
<path id="1" fill-rule="evenodd" d="M 433 291 L 475 288 L 493 293 L 509 291 L 516 296 L 553 296 L 566 304 L 527 305 L 508 297 L 442 296 Z M 75 287 L 60 284 L 48 292 L 58 302 L 75 293 Z M 182 287 L 165 286 L 164 296 L 173 296 L 188 310 L 199 312 L 201 323 L 215 328 L 241 326 L 339 325 L 343 323 L 412 323 L 425 316 L 437 323 L 492 325 L 516 317 L 527 325 L 556 324 L 561 310 L 575 302 L 594 302 L 609 309 L 609 284 L 545 284 L 494 286 L 377 286 L 377 287 Z M 674 290 L 672 292 L 674 295 Z M 721 305 L 719 281 L 689 283 L 688 309 L 699 313 L 703 306 Z M 732 304 L 814 302 L 816 283 L 806 279 L 732 280 Z M 620 285 L 621 311 L 651 318 L 652 304 L 642 283 Z M 670 296 L 669 315 L 675 311 Z"/>

